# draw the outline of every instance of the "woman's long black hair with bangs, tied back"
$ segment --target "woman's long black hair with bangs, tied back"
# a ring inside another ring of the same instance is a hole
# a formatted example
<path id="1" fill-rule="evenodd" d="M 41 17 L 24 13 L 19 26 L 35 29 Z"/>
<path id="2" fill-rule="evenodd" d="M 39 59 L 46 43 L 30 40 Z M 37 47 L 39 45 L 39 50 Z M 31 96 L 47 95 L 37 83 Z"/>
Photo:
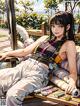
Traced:
<path id="1" fill-rule="evenodd" d="M 72 13 L 59 11 L 55 14 L 54 17 L 50 20 L 50 38 L 53 36 L 51 27 L 54 25 L 62 25 L 65 29 L 64 37 L 68 40 L 74 40 L 75 30 L 74 30 L 74 17 Z M 67 25 L 70 25 L 69 30 L 67 31 Z M 67 32 L 67 35 L 66 35 Z"/>

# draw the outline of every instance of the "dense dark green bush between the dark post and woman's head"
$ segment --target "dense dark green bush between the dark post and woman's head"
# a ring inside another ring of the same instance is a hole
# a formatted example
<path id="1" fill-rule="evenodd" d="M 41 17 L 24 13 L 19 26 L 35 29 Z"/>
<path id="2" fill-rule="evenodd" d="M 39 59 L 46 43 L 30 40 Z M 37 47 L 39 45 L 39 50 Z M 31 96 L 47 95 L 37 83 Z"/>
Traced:
<path id="1" fill-rule="evenodd" d="M 47 21 L 44 15 L 38 15 L 37 13 L 22 14 L 16 17 L 17 23 L 25 28 L 40 29 L 42 22 Z"/>

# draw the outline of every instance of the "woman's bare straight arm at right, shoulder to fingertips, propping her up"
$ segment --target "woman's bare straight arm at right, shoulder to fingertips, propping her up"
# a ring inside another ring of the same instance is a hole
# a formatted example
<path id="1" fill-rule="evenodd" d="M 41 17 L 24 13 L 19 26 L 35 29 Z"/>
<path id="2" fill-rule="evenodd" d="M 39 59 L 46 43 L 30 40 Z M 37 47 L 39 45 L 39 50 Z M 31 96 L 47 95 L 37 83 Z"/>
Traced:
<path id="1" fill-rule="evenodd" d="M 76 46 L 73 41 L 66 43 L 66 54 L 69 63 L 69 85 L 66 88 L 67 93 L 71 93 L 76 88 L 77 81 L 77 63 L 76 63 Z"/>

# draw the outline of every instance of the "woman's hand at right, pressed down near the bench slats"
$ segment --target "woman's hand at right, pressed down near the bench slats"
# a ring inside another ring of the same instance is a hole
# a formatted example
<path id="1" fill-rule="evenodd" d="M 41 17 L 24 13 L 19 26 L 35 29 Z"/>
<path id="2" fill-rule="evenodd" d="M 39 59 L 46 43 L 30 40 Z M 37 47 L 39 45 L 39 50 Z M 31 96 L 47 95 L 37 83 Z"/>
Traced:
<path id="1" fill-rule="evenodd" d="M 69 78 L 69 84 L 65 90 L 66 93 L 71 94 L 72 91 L 76 88 L 76 82 L 73 80 L 73 78 Z"/>

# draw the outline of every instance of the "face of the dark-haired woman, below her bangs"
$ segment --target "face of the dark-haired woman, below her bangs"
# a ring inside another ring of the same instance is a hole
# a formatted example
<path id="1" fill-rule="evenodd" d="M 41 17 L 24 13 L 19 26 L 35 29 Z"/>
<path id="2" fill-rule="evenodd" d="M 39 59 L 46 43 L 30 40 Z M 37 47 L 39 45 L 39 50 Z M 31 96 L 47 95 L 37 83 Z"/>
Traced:
<path id="1" fill-rule="evenodd" d="M 64 36 L 64 26 L 62 25 L 52 25 L 51 27 L 52 33 L 57 39 L 61 39 Z"/>

